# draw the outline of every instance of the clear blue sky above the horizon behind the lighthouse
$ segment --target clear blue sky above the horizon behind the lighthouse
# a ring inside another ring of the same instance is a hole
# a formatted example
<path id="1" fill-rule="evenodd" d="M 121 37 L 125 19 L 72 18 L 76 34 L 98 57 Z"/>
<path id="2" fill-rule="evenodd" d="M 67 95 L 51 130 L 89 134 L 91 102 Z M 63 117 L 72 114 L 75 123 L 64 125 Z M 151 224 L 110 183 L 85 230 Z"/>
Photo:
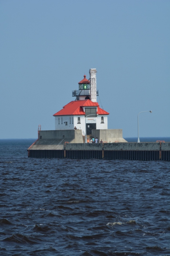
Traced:
<path id="1" fill-rule="evenodd" d="M 97 69 L 124 137 L 170 137 L 169 0 L 1 0 L 0 139 L 37 138 Z"/>

